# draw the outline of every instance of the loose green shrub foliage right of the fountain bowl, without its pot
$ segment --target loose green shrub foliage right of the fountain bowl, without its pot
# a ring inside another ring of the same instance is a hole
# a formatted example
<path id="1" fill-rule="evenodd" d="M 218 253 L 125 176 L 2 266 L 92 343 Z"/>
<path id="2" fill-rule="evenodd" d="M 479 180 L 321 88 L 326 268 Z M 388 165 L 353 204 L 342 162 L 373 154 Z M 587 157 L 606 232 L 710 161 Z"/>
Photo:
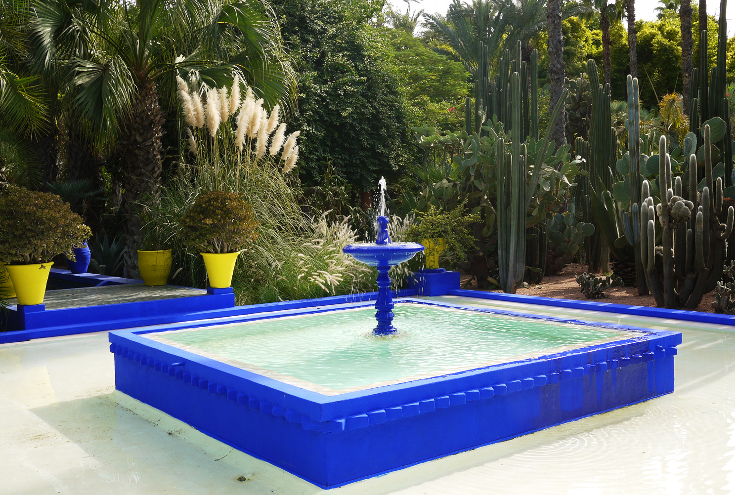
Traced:
<path id="1" fill-rule="evenodd" d="M 480 215 L 467 214 L 465 205 L 461 204 L 448 212 L 438 210 L 434 205 L 429 211 L 419 213 L 418 225 L 412 225 L 403 235 L 409 242 L 421 242 L 423 239 L 443 238 L 445 255 L 456 263 L 467 259 L 467 252 L 475 247 L 472 226 L 480 221 Z"/>

